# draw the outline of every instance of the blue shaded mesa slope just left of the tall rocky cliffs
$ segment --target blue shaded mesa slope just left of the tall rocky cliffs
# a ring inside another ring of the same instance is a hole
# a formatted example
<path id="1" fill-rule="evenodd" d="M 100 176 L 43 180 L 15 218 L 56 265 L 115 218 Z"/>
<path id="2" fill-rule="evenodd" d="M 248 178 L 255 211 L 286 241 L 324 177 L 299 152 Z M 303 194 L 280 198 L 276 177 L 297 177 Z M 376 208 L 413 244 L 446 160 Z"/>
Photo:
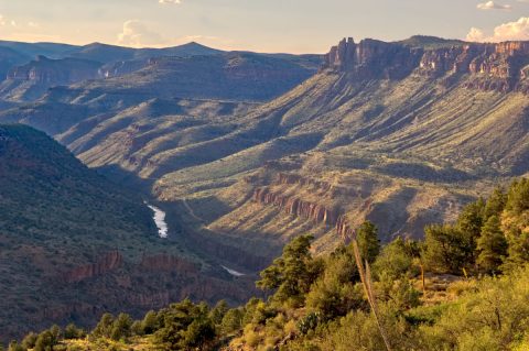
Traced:
<path id="1" fill-rule="evenodd" d="M 315 67 L 252 53 L 159 57 L 130 75 L 72 87 L 72 100 L 86 91 L 112 91 L 150 98 L 263 101 L 312 76 Z"/>

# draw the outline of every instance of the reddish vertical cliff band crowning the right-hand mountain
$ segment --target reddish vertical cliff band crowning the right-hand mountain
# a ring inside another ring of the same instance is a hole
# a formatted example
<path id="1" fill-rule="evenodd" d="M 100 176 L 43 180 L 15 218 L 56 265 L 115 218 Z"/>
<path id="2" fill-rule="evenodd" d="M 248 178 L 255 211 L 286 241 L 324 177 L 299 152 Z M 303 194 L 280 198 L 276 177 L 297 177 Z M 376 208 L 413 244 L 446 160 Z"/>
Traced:
<path id="1" fill-rule="evenodd" d="M 356 44 L 349 37 L 331 48 L 323 68 L 353 73 L 357 79 L 401 79 L 415 70 L 429 76 L 469 74 L 476 83 L 468 87 L 527 92 L 528 65 L 529 42 L 422 48 L 375 40 Z"/>

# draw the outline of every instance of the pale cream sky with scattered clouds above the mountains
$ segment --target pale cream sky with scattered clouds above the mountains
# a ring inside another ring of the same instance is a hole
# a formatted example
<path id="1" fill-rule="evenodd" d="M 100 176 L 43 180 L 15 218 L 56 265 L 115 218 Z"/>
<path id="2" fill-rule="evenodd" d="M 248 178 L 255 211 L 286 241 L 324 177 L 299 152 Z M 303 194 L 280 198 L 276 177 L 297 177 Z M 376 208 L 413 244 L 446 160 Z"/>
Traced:
<path id="1" fill-rule="evenodd" d="M 339 39 L 529 40 L 529 0 L 0 0 L 0 40 L 325 53 Z"/>

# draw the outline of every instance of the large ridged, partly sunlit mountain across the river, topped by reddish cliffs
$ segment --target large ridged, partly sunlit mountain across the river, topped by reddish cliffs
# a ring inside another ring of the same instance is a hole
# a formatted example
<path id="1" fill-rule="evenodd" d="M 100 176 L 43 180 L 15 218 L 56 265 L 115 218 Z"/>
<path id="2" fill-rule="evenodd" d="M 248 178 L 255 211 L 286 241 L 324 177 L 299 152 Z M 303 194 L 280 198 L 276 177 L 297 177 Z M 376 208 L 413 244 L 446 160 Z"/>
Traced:
<path id="1" fill-rule="evenodd" d="M 212 256 L 257 270 L 292 237 L 330 251 L 365 219 L 385 241 L 422 237 L 526 174 L 528 45 L 344 40 L 302 84 L 300 57 L 162 57 L 0 121 L 43 129 L 164 201 Z"/>

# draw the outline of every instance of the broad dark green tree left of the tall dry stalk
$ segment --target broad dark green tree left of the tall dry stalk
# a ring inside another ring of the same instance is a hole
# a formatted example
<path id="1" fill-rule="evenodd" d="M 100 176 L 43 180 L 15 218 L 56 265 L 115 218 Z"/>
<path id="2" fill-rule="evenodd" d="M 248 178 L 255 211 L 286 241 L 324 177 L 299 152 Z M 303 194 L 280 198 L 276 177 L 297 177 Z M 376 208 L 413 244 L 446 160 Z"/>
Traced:
<path id="1" fill-rule="evenodd" d="M 274 298 L 279 301 L 292 301 L 300 305 L 304 294 L 319 274 L 317 264 L 312 259 L 311 235 L 302 235 L 284 246 L 281 257 L 260 273 L 257 286 L 261 289 L 277 289 Z"/>

